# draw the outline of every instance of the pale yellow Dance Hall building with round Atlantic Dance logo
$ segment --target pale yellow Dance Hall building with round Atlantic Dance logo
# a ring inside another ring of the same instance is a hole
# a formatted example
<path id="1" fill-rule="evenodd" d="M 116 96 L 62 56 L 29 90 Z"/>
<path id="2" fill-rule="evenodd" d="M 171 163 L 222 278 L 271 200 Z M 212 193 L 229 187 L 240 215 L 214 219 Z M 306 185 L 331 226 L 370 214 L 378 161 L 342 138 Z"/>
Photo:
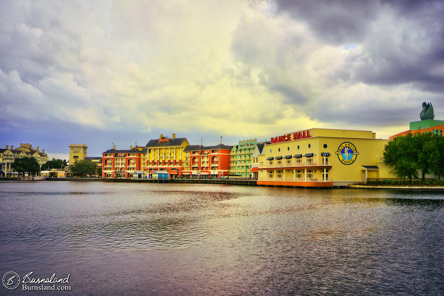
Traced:
<path id="1" fill-rule="evenodd" d="M 371 131 L 310 129 L 271 139 L 258 155 L 258 185 L 339 187 L 394 178 L 383 158 L 388 140 Z"/>

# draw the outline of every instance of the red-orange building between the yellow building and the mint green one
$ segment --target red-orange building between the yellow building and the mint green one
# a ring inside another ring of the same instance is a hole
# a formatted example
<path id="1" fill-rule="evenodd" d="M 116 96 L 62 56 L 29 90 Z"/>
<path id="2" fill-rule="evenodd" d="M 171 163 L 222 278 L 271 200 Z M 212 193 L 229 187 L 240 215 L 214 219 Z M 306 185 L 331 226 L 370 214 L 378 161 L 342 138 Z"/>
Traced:
<path id="1" fill-rule="evenodd" d="M 188 146 L 184 150 L 186 160 L 183 174 L 190 177 L 227 177 L 232 148 L 223 144 L 211 147 Z"/>

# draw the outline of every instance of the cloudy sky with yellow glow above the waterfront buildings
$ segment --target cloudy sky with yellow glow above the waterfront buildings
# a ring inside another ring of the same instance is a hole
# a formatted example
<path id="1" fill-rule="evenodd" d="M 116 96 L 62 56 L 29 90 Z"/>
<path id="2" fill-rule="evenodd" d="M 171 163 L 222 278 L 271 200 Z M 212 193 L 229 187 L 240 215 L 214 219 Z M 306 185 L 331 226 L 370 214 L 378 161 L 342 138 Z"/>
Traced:
<path id="1" fill-rule="evenodd" d="M 1 148 L 387 139 L 422 102 L 444 120 L 443 0 L 0 0 Z"/>

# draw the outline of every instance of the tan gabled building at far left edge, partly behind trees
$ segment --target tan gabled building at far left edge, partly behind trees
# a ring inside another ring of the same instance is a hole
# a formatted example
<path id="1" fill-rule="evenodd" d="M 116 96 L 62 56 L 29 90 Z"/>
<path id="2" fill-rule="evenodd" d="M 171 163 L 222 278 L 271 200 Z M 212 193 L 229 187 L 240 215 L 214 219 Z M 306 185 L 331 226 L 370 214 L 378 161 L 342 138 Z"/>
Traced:
<path id="1" fill-rule="evenodd" d="M 22 144 L 20 143 L 20 147 L 14 149 L 14 146 L 5 145 L 4 149 L 0 149 L 0 176 L 11 176 L 12 171 L 12 163 L 15 158 L 23 158 L 23 157 L 33 157 L 37 160 L 39 165 L 43 165 L 48 161 L 48 155 L 45 153 L 45 150 L 39 150 L 39 146 L 33 148 L 31 144 Z"/>

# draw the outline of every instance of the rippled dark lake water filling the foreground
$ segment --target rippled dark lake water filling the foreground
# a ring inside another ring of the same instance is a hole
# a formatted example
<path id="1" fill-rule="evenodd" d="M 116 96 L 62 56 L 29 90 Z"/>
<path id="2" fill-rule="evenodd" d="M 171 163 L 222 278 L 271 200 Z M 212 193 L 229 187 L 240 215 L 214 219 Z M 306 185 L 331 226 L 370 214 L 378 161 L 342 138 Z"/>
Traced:
<path id="1" fill-rule="evenodd" d="M 0 215 L 0 295 L 444 295 L 444 191 L 1 182 Z"/>

